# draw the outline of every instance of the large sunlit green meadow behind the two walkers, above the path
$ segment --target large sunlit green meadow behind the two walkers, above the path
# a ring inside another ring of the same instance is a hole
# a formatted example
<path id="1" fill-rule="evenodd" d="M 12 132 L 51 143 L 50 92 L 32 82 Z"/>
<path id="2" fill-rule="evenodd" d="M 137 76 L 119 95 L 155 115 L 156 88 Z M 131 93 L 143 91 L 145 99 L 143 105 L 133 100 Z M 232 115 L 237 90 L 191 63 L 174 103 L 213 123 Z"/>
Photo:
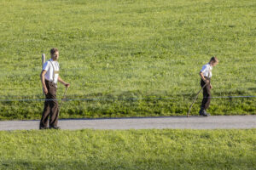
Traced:
<path id="1" fill-rule="evenodd" d="M 212 55 L 213 96 L 255 96 L 255 28 L 254 0 L 2 0 L 0 98 L 44 99 L 41 54 L 53 47 L 67 98 L 86 99 L 65 103 L 65 118 L 184 115 Z M 212 99 L 209 112 L 255 114 L 255 102 Z M 43 105 L 0 101 L 0 119 L 38 119 Z"/>

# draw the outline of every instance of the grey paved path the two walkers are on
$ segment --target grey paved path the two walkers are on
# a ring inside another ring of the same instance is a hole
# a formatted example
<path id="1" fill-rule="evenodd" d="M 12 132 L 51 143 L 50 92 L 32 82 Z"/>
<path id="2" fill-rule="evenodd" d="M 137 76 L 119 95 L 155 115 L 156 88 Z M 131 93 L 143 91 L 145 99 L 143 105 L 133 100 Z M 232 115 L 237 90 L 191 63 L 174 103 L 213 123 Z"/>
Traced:
<path id="1" fill-rule="evenodd" d="M 0 121 L 0 130 L 38 129 L 39 121 Z M 62 119 L 61 129 L 230 129 L 256 128 L 256 116 L 168 116 L 108 119 Z"/>

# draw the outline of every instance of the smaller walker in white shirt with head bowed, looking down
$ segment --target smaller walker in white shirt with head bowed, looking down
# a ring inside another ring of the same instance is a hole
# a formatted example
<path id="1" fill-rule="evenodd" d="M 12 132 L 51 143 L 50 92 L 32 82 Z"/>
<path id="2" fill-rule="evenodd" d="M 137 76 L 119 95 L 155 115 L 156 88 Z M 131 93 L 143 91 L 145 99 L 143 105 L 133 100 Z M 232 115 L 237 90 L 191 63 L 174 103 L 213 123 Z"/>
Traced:
<path id="1" fill-rule="evenodd" d="M 212 77 L 212 67 L 215 65 L 218 65 L 218 59 L 217 57 L 212 57 L 212 59 L 210 59 L 210 62 L 207 65 L 203 65 L 201 71 L 199 72 L 199 75 L 201 77 L 201 87 L 203 88 L 207 83 L 205 88 L 203 88 L 203 99 L 201 102 L 201 110 L 199 111 L 199 114 L 201 116 L 210 116 L 210 114 L 207 113 L 207 108 L 209 108 L 210 106 L 211 97 L 212 97 L 211 77 Z"/>

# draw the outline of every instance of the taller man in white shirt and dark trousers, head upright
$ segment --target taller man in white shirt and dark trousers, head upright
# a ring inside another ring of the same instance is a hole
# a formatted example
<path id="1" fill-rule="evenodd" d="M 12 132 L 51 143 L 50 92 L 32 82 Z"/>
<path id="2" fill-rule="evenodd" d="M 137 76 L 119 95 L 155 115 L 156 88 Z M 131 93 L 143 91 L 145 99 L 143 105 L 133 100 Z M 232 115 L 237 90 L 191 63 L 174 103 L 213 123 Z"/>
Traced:
<path id="1" fill-rule="evenodd" d="M 44 111 L 40 121 L 39 129 L 49 128 L 59 129 L 58 123 L 58 102 L 56 100 L 57 82 L 61 82 L 67 88 L 69 83 L 64 82 L 59 76 L 60 65 L 57 61 L 59 59 L 59 50 L 57 48 L 50 49 L 51 59 L 44 63 L 43 70 L 41 72 L 41 82 L 44 89 L 45 101 Z"/>

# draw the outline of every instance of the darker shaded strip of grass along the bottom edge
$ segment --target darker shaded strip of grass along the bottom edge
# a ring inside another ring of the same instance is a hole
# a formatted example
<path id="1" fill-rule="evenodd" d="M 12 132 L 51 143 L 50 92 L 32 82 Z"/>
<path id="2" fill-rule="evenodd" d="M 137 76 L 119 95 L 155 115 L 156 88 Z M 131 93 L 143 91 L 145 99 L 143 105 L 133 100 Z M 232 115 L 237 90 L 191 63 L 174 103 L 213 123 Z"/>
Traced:
<path id="1" fill-rule="evenodd" d="M 201 157 L 201 156 L 199 156 Z M 133 158 L 131 158 L 133 159 Z M 150 162 L 148 162 L 150 161 Z M 195 160 L 194 160 L 195 161 Z M 150 165 L 150 166 L 149 166 Z M 182 160 L 172 160 L 163 161 L 160 159 L 151 159 L 147 160 L 140 158 L 137 161 L 121 161 L 117 157 L 115 161 L 113 160 L 90 160 L 90 161 L 0 161 L 0 169 L 116 169 L 116 170 L 137 170 L 137 169 L 254 169 L 255 163 L 252 158 L 233 158 L 225 157 L 224 160 L 219 160 L 219 158 L 211 158 L 207 160 L 207 163 L 204 160 L 191 162 L 190 159 Z"/>

